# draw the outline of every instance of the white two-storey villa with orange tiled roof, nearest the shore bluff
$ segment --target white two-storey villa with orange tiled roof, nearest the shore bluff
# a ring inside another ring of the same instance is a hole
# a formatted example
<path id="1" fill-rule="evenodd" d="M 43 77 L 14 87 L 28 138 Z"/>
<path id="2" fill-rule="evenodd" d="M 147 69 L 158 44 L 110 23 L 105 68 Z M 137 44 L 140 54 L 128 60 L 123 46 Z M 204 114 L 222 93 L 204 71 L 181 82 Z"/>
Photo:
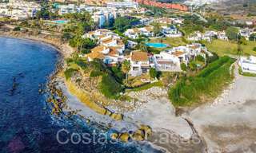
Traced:
<path id="1" fill-rule="evenodd" d="M 133 77 L 147 73 L 150 69 L 148 54 L 145 52 L 134 51 L 130 53 L 130 75 Z"/>

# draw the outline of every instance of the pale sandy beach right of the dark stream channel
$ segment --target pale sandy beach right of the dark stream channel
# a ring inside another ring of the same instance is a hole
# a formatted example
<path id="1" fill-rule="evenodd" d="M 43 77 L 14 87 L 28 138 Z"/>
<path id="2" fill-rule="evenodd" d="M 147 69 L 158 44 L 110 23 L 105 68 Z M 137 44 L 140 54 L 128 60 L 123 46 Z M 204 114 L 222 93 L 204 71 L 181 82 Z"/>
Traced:
<path id="1" fill-rule="evenodd" d="M 256 77 L 236 72 L 230 90 L 213 104 L 194 109 L 191 120 L 209 152 L 256 152 Z"/>

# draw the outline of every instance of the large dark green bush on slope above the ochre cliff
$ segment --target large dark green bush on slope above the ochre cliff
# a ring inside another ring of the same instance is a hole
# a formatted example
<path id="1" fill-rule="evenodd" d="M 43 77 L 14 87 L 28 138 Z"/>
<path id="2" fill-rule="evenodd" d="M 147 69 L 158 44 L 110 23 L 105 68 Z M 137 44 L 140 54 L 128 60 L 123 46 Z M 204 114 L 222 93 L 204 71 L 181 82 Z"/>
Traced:
<path id="1" fill-rule="evenodd" d="M 106 74 L 102 77 L 100 91 L 108 98 L 116 98 L 118 93 L 123 91 L 123 88 L 114 77 L 110 76 L 110 74 Z"/>

